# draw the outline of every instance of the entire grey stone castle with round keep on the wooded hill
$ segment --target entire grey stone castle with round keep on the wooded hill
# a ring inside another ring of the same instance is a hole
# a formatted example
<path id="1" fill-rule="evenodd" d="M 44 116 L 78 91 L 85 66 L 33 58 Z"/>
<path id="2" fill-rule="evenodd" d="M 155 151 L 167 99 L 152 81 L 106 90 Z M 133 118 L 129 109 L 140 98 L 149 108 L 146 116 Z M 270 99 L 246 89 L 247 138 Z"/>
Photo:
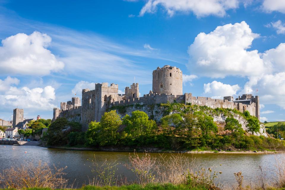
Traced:
<path id="1" fill-rule="evenodd" d="M 237 109 L 241 112 L 248 110 L 251 115 L 259 119 L 259 97 L 243 94 L 234 100 L 232 96 L 225 96 L 223 100 L 207 97 L 192 96 L 191 93 L 182 92 L 182 71 L 175 67 L 165 65 L 153 71 L 152 91 L 139 97 L 139 84 L 133 83 L 125 88 L 125 94 L 118 94 L 118 85 L 97 83 L 94 90 L 82 90 L 82 105 L 80 99 L 73 97 L 72 101 L 61 102 L 60 109 L 53 108 L 53 121 L 61 117 L 80 117 L 83 130 L 88 129 L 91 121 L 100 121 L 106 110 L 116 105 L 153 105 L 160 103 L 179 102 L 183 104 L 208 106 L 215 108 Z"/>

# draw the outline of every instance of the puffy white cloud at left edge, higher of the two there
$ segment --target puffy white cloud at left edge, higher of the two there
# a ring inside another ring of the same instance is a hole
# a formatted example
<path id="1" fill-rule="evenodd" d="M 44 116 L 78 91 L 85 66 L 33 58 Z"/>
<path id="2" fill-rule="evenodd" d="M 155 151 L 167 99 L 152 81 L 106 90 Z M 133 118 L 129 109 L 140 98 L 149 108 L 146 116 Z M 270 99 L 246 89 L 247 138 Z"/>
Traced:
<path id="1" fill-rule="evenodd" d="M 33 32 L 16 34 L 2 40 L 0 70 L 5 74 L 48 75 L 64 68 L 64 63 L 47 50 L 51 38 L 47 34 Z"/>

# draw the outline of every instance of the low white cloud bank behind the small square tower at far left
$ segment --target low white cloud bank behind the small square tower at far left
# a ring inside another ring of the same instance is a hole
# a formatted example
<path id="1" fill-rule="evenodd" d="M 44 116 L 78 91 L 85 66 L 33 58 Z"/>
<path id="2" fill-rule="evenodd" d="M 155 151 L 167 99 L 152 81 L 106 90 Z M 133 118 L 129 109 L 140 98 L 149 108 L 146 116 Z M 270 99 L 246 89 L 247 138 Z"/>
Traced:
<path id="1" fill-rule="evenodd" d="M 19 80 L 17 84 L 18 82 Z M 56 107 L 53 104 L 55 98 L 55 89 L 51 86 L 31 89 L 26 86 L 21 88 L 10 86 L 7 91 L 0 93 L 0 106 L 9 110 L 16 107 L 27 110 L 52 110 Z"/>

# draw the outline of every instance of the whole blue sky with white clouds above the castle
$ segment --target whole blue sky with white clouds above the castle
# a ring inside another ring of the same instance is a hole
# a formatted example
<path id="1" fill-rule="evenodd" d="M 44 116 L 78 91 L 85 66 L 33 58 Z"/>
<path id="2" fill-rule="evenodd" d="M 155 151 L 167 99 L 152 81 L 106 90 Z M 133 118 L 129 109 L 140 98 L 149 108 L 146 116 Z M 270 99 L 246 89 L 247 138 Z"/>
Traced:
<path id="1" fill-rule="evenodd" d="M 284 121 L 284 0 L 0 0 L 0 118 L 52 118 L 94 83 L 151 90 L 152 70 L 183 71 L 183 93 L 260 96 Z M 256 89 L 258 88 L 258 93 Z"/>

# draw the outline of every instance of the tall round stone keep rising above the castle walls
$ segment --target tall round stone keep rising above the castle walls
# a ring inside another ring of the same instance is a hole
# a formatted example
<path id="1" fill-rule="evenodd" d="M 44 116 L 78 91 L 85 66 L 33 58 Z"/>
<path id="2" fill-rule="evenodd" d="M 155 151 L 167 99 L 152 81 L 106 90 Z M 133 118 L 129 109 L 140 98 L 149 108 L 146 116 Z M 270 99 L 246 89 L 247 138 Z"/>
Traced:
<path id="1" fill-rule="evenodd" d="M 152 91 L 157 94 L 182 95 L 182 71 L 170 65 L 152 72 Z"/>

